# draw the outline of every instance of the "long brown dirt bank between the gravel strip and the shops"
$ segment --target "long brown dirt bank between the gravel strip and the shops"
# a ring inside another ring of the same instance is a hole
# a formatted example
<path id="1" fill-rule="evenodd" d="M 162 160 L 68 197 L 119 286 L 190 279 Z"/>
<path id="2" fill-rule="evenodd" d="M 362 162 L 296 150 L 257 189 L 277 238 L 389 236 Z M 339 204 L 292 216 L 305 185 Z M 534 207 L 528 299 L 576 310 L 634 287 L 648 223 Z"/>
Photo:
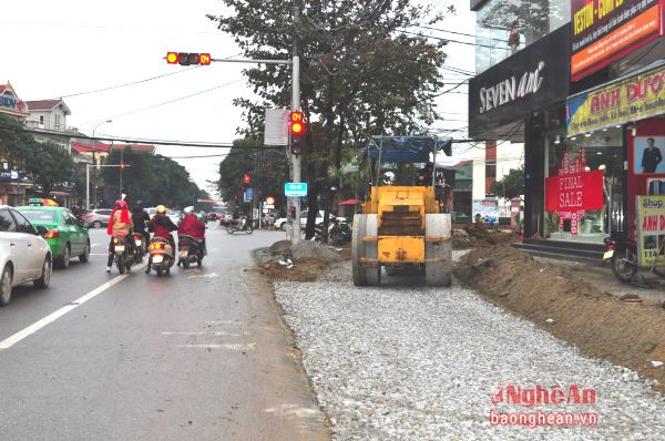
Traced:
<path id="1" fill-rule="evenodd" d="M 665 309 L 626 302 L 554 264 L 534 260 L 509 245 L 473 249 L 456 276 L 488 300 L 602 357 L 658 380 L 665 391 Z"/>

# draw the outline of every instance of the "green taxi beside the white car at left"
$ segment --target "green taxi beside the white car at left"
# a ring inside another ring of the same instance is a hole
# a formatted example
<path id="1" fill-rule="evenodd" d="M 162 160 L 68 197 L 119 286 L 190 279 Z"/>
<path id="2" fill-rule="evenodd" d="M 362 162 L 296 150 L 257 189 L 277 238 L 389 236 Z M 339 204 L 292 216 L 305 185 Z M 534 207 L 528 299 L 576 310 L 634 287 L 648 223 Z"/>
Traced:
<path id="1" fill-rule="evenodd" d="M 43 226 L 49 232 L 43 235 L 51 247 L 54 263 L 61 268 L 69 267 L 70 258 L 79 256 L 81 263 L 90 257 L 90 236 L 76 217 L 66 208 L 29 205 L 17 207 L 32 225 Z"/>

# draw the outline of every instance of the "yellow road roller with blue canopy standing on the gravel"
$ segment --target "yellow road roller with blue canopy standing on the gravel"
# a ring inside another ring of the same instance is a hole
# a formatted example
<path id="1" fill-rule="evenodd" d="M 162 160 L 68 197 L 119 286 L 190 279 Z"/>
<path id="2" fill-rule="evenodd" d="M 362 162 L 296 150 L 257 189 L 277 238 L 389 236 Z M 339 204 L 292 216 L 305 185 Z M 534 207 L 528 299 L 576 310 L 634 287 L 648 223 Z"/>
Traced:
<path id="1" fill-rule="evenodd" d="M 385 268 L 388 274 L 423 275 L 429 286 L 450 286 L 452 226 L 450 214 L 442 213 L 446 183 L 433 168 L 440 150 L 449 154 L 450 141 L 372 136 L 364 151 L 371 187 L 362 213 L 354 217 L 354 285 L 379 285 Z M 418 163 L 427 165 L 417 173 L 413 165 L 405 166 Z M 405 170 L 412 176 L 396 176 Z"/>

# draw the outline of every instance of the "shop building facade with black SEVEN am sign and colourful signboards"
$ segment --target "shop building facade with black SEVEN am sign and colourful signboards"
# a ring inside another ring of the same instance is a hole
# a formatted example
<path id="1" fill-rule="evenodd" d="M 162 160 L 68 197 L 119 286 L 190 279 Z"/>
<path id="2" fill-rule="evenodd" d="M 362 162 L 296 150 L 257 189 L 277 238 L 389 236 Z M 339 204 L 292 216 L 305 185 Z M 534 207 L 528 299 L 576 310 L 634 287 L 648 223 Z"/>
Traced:
<path id="1" fill-rule="evenodd" d="M 523 143 L 526 244 L 601 252 L 665 194 L 664 6 L 471 1 L 469 135 Z"/>

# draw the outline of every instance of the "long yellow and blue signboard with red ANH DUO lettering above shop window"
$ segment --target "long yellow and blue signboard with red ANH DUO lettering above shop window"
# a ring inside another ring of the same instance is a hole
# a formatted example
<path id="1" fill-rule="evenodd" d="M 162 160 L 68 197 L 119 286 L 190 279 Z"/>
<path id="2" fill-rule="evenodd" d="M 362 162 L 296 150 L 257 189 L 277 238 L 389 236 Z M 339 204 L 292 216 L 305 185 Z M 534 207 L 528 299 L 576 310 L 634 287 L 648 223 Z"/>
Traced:
<path id="1" fill-rule="evenodd" d="M 665 113 L 665 63 L 566 100 L 567 134 L 575 135 Z"/>

